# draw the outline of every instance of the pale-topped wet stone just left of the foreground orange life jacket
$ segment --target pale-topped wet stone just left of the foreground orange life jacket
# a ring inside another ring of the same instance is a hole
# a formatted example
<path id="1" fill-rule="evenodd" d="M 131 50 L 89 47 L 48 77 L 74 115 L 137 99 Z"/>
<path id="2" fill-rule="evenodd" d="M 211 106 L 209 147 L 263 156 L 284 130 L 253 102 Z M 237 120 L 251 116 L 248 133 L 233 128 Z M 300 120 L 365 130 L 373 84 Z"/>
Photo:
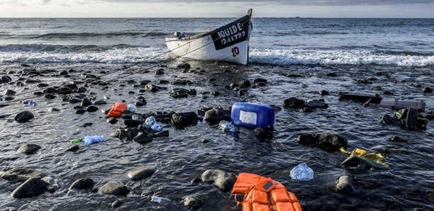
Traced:
<path id="1" fill-rule="evenodd" d="M 212 184 L 218 190 L 223 192 L 228 192 L 232 189 L 233 184 L 235 183 L 235 175 L 232 173 L 226 173 L 221 170 L 206 170 L 201 175 L 201 180 Z"/>

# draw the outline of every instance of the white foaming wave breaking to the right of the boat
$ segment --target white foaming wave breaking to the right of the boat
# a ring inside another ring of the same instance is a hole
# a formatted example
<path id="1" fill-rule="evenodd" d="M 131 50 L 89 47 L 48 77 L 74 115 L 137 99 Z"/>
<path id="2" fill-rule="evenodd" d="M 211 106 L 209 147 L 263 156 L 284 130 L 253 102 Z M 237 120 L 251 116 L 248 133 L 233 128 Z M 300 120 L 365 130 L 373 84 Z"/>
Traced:
<path id="1" fill-rule="evenodd" d="M 408 52 L 407 52 L 408 53 Z M 406 55 L 394 52 L 375 52 L 363 50 L 264 50 L 250 51 L 250 62 L 260 64 L 352 64 L 352 65 L 396 65 L 406 67 L 434 66 L 433 54 Z"/>

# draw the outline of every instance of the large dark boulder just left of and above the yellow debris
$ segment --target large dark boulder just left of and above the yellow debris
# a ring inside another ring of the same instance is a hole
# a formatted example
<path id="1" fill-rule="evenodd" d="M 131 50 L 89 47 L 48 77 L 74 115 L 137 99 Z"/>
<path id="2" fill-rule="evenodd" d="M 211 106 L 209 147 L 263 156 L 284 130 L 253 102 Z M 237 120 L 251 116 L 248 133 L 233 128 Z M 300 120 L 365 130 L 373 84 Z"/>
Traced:
<path id="1" fill-rule="evenodd" d="M 326 152 L 338 152 L 340 147 L 348 147 L 347 139 L 330 133 L 303 134 L 297 138 L 297 142 L 308 147 L 318 147 Z"/>

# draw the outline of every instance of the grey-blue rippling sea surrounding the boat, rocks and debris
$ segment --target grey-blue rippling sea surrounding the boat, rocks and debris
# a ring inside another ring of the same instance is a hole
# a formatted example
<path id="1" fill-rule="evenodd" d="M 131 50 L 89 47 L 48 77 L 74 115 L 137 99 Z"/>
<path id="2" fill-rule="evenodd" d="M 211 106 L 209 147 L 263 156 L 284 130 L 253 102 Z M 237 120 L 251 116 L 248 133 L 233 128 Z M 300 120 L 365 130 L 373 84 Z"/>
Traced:
<path id="1" fill-rule="evenodd" d="M 13 198 L 22 182 L 0 178 L 0 210 L 114 210 L 116 200 L 122 203 L 116 210 L 189 210 L 187 195 L 201 199 L 200 210 L 241 210 L 230 193 L 198 182 L 208 169 L 271 177 L 294 193 L 304 210 L 434 210 L 433 122 L 417 131 L 382 125 L 382 116 L 393 116 L 394 110 L 339 99 L 347 92 L 423 101 L 421 115 L 433 115 L 434 19 L 252 18 L 248 65 L 177 58 L 167 50 L 165 38 L 174 32 L 204 33 L 235 19 L 0 18 L 0 76 L 11 77 L 0 84 L 0 174 L 35 169 L 46 176 L 51 190 Z M 191 69 L 177 68 L 184 62 Z M 164 74 L 155 74 L 157 69 Z M 173 83 L 177 79 L 187 82 Z M 245 95 L 228 88 L 246 79 L 252 86 L 243 89 Z M 265 79 L 266 86 L 254 79 Z M 107 104 L 96 105 L 95 113 L 76 114 L 79 103 L 65 101 L 62 94 L 53 99 L 33 94 L 72 82 L 84 87 L 92 102 Z M 146 91 L 147 83 L 162 89 Z M 169 90 L 174 88 L 195 89 L 196 95 L 172 98 Z M 8 89 L 16 91 L 9 101 Z M 230 109 L 240 101 L 282 110 L 266 139 L 243 127 L 235 134 L 224 132 L 206 121 L 182 129 L 165 125 L 169 137 L 148 144 L 111 137 L 126 126 L 122 119 L 109 124 L 100 110 L 116 102 L 134 104 L 140 97 L 147 105 L 137 107 L 137 113 Z M 328 108 L 310 113 L 283 108 L 291 97 L 323 99 Z M 37 105 L 24 106 L 27 99 Z M 14 121 L 23 110 L 34 118 Z M 349 151 L 380 153 L 391 169 L 351 171 L 341 164 L 347 154 L 299 144 L 297 137 L 305 133 L 340 135 Z M 87 135 L 105 139 L 65 152 L 71 139 Z M 402 140 L 391 141 L 394 136 Z M 26 143 L 41 149 L 29 155 L 17 152 Z M 303 163 L 314 172 L 311 181 L 290 176 Z M 127 177 L 143 166 L 155 173 L 140 181 Z M 351 193 L 335 192 L 343 175 L 352 178 Z M 69 190 L 79 178 L 91 178 L 94 188 Z M 128 195 L 101 193 L 109 181 L 125 184 Z M 169 201 L 155 203 L 153 196 Z"/>

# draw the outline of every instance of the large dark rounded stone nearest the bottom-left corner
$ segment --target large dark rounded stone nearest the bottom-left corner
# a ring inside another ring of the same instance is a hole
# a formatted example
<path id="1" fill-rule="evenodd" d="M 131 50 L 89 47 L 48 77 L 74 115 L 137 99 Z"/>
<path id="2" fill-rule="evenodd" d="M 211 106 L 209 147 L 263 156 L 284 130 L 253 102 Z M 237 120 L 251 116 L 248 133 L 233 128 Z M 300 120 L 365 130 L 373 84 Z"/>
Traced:
<path id="1" fill-rule="evenodd" d="M 21 186 L 18 186 L 11 196 L 13 198 L 30 198 L 33 196 L 38 196 L 48 190 L 48 183 L 42 181 L 40 178 L 29 178 Z"/>

